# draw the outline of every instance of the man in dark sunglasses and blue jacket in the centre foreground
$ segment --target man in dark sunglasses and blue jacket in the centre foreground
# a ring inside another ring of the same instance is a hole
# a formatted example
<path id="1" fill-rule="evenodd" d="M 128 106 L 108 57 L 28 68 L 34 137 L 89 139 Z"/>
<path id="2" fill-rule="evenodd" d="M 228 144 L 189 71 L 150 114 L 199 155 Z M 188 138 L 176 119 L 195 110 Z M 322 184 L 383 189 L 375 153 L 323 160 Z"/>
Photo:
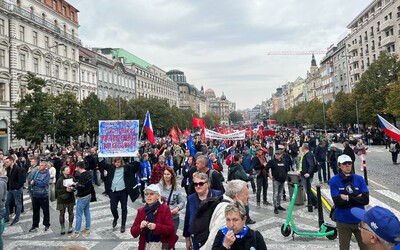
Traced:
<path id="1" fill-rule="evenodd" d="M 202 201 L 211 197 L 218 197 L 222 195 L 219 190 L 210 188 L 208 174 L 202 172 L 195 172 L 193 174 L 192 185 L 195 192 L 188 196 L 186 203 L 185 223 L 183 226 L 183 237 L 186 241 L 186 249 L 199 250 L 199 244 L 194 238 L 194 219 L 196 211 Z"/>

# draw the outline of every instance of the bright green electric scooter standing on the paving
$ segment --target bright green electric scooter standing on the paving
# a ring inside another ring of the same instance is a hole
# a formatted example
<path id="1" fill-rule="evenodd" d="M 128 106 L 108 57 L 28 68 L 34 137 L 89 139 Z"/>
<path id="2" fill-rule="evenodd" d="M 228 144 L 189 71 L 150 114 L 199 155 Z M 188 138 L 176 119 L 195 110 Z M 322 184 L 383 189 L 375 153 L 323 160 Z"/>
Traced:
<path id="1" fill-rule="evenodd" d="M 286 217 L 286 222 L 281 227 L 282 235 L 285 237 L 288 237 L 292 233 L 291 228 L 293 228 L 293 233 L 292 233 L 293 239 L 294 239 L 295 234 L 302 235 L 302 236 L 327 237 L 330 240 L 336 239 L 337 238 L 337 229 L 335 226 L 330 225 L 328 223 L 323 223 L 319 227 L 318 232 L 301 230 L 296 227 L 296 224 L 292 217 L 292 212 L 293 212 L 293 207 L 294 207 L 296 196 L 297 196 L 298 184 L 293 184 L 293 185 L 294 185 L 293 195 L 292 195 L 292 199 L 290 201 L 290 207 L 289 207 L 288 214 Z"/>

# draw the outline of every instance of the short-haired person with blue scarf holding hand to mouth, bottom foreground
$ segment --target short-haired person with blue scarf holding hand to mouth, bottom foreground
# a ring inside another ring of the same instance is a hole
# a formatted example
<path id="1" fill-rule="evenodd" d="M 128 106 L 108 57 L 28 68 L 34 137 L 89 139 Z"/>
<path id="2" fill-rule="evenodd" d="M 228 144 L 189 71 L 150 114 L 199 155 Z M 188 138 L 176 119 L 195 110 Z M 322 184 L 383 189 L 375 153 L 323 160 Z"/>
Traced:
<path id="1" fill-rule="evenodd" d="M 241 201 L 225 208 L 226 224 L 215 237 L 212 250 L 267 250 L 264 237 L 246 225 L 246 209 Z"/>

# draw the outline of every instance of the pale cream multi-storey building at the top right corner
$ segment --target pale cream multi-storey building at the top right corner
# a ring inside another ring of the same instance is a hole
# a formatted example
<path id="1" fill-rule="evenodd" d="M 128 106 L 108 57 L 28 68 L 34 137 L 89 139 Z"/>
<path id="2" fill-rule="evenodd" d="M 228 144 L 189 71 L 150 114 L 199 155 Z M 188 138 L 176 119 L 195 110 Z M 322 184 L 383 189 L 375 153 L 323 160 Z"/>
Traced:
<path id="1" fill-rule="evenodd" d="M 347 26 L 346 39 L 349 89 L 381 51 L 399 54 L 400 1 L 374 0 Z"/>

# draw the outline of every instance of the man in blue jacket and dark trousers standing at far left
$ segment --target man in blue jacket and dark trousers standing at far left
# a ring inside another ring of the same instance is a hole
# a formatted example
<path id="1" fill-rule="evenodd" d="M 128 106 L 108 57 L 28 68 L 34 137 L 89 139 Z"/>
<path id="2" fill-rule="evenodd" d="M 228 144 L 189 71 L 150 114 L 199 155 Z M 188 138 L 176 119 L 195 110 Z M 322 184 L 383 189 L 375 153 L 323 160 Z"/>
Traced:
<path id="1" fill-rule="evenodd" d="M 33 174 L 30 184 L 32 186 L 32 228 L 29 232 L 37 232 L 40 221 L 40 209 L 43 210 L 43 225 L 47 231 L 50 227 L 50 210 L 49 210 L 49 181 L 50 173 L 47 169 L 47 162 L 41 161 L 39 169 Z"/>

